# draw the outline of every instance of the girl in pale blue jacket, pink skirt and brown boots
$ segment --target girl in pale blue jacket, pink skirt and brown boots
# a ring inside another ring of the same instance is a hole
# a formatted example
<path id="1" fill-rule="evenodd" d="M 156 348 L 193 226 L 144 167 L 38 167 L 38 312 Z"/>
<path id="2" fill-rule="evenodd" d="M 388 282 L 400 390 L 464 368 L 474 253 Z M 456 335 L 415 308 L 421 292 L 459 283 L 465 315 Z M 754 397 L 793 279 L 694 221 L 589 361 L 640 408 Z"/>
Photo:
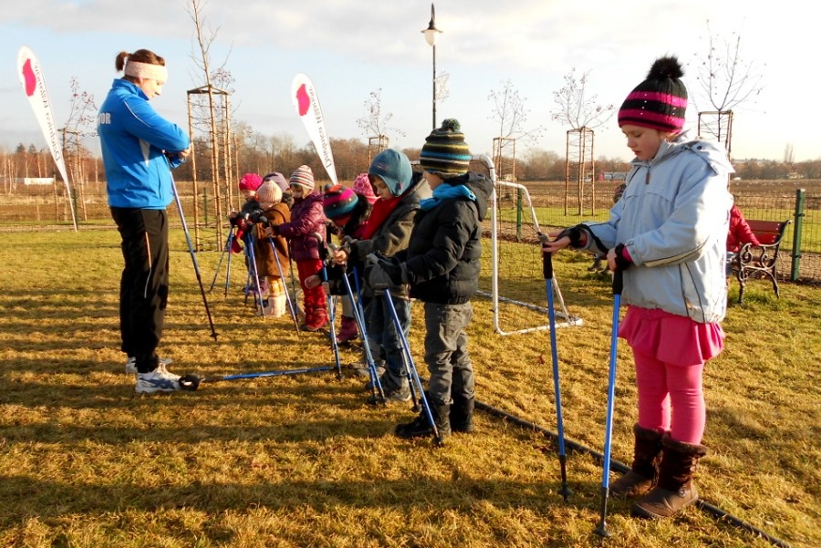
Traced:
<path id="1" fill-rule="evenodd" d="M 547 253 L 567 245 L 607 253 L 609 269 L 623 271 L 628 309 L 618 336 L 633 350 L 639 419 L 631 470 L 609 492 L 643 495 L 633 512 L 648 518 L 698 499 L 691 480 L 706 454 L 701 374 L 722 351 L 727 302 L 733 167 L 720 146 L 684 139 L 682 76 L 678 59 L 657 59 L 619 109 L 618 126 L 636 158 L 608 222 L 579 224 L 544 244 Z"/>

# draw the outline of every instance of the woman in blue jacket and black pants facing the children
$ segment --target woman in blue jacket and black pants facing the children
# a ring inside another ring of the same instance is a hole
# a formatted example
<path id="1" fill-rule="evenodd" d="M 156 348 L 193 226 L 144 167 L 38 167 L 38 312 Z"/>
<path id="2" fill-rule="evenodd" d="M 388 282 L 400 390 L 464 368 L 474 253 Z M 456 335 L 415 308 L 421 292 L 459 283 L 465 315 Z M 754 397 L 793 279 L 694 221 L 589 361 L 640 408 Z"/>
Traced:
<path id="1" fill-rule="evenodd" d="M 136 373 L 138 393 L 180 388 L 179 376 L 157 356 L 168 301 L 168 217 L 171 168 L 191 152 L 191 140 L 149 105 L 168 79 L 165 60 L 147 49 L 120 52 L 123 78 L 99 109 L 98 133 L 111 217 L 122 238 L 120 336 Z"/>

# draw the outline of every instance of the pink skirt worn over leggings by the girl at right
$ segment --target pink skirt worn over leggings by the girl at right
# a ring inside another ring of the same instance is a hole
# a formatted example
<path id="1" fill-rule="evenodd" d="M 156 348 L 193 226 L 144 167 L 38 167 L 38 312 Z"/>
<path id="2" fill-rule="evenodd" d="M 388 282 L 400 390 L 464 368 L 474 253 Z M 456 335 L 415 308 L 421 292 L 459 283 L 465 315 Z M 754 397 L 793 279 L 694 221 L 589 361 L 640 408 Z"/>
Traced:
<path id="1" fill-rule="evenodd" d="M 628 306 L 618 336 L 634 352 L 674 366 L 696 366 L 718 356 L 724 347 L 720 324 L 700 324 L 660 309 Z"/>

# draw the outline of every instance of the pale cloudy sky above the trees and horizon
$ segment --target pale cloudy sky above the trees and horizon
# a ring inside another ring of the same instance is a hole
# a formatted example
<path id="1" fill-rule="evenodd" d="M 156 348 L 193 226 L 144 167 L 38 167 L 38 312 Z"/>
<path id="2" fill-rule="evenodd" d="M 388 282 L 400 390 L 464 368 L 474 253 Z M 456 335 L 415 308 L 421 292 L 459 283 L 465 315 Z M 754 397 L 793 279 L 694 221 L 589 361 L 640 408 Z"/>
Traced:
<path id="1" fill-rule="evenodd" d="M 517 141 L 517 155 L 541 149 L 564 156 L 570 128 L 551 115 L 565 77 L 587 74 L 587 97 L 618 109 L 665 55 L 684 67 L 687 125 L 695 136 L 698 110 L 713 110 L 695 77 L 715 36 L 720 47 L 740 37 L 744 73 L 760 78 L 758 93 L 733 109 L 733 159 L 781 161 L 787 147 L 795 161 L 821 158 L 821 109 L 812 106 L 821 93 L 815 58 L 821 33 L 816 8 L 805 0 L 440 0 L 435 6 L 442 30 L 436 69 L 448 74 L 449 92 L 437 103 L 437 121 L 458 119 L 474 154 L 490 153 L 500 133 L 489 97 L 505 82 L 524 100 L 523 128 L 543 128 L 539 140 Z M 122 76 L 114 58 L 140 48 L 164 57 L 169 68 L 151 105 L 187 128 L 186 91 L 204 84 L 189 7 L 190 0 L 3 2 L 0 147 L 46 146 L 16 75 L 22 46 L 39 60 L 58 128 L 68 119 L 72 78 L 99 106 Z M 201 10 L 214 35 L 211 64 L 224 65 L 234 78 L 232 119 L 256 133 L 290 135 L 298 146 L 310 142 L 290 98 L 300 72 L 314 83 L 331 138 L 367 141 L 357 120 L 366 117 L 374 92 L 392 116 L 385 131 L 392 146 L 420 148 L 431 132 L 432 49 L 421 34 L 430 2 L 204 0 Z M 615 116 L 595 131 L 596 158 L 631 158 Z M 86 146 L 99 150 L 94 139 Z"/>

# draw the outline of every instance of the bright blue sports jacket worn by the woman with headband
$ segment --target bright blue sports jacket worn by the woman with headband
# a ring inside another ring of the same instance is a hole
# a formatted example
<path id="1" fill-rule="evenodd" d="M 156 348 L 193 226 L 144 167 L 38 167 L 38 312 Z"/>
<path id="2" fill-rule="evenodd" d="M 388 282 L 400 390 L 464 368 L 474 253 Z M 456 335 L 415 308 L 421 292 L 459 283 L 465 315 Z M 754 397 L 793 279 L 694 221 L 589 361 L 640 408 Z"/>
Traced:
<path id="1" fill-rule="evenodd" d="M 142 89 L 120 78 L 99 109 L 97 130 L 109 206 L 165 209 L 173 200 L 170 167 L 182 160 L 163 152 L 187 149 L 188 135 L 157 114 Z"/>

